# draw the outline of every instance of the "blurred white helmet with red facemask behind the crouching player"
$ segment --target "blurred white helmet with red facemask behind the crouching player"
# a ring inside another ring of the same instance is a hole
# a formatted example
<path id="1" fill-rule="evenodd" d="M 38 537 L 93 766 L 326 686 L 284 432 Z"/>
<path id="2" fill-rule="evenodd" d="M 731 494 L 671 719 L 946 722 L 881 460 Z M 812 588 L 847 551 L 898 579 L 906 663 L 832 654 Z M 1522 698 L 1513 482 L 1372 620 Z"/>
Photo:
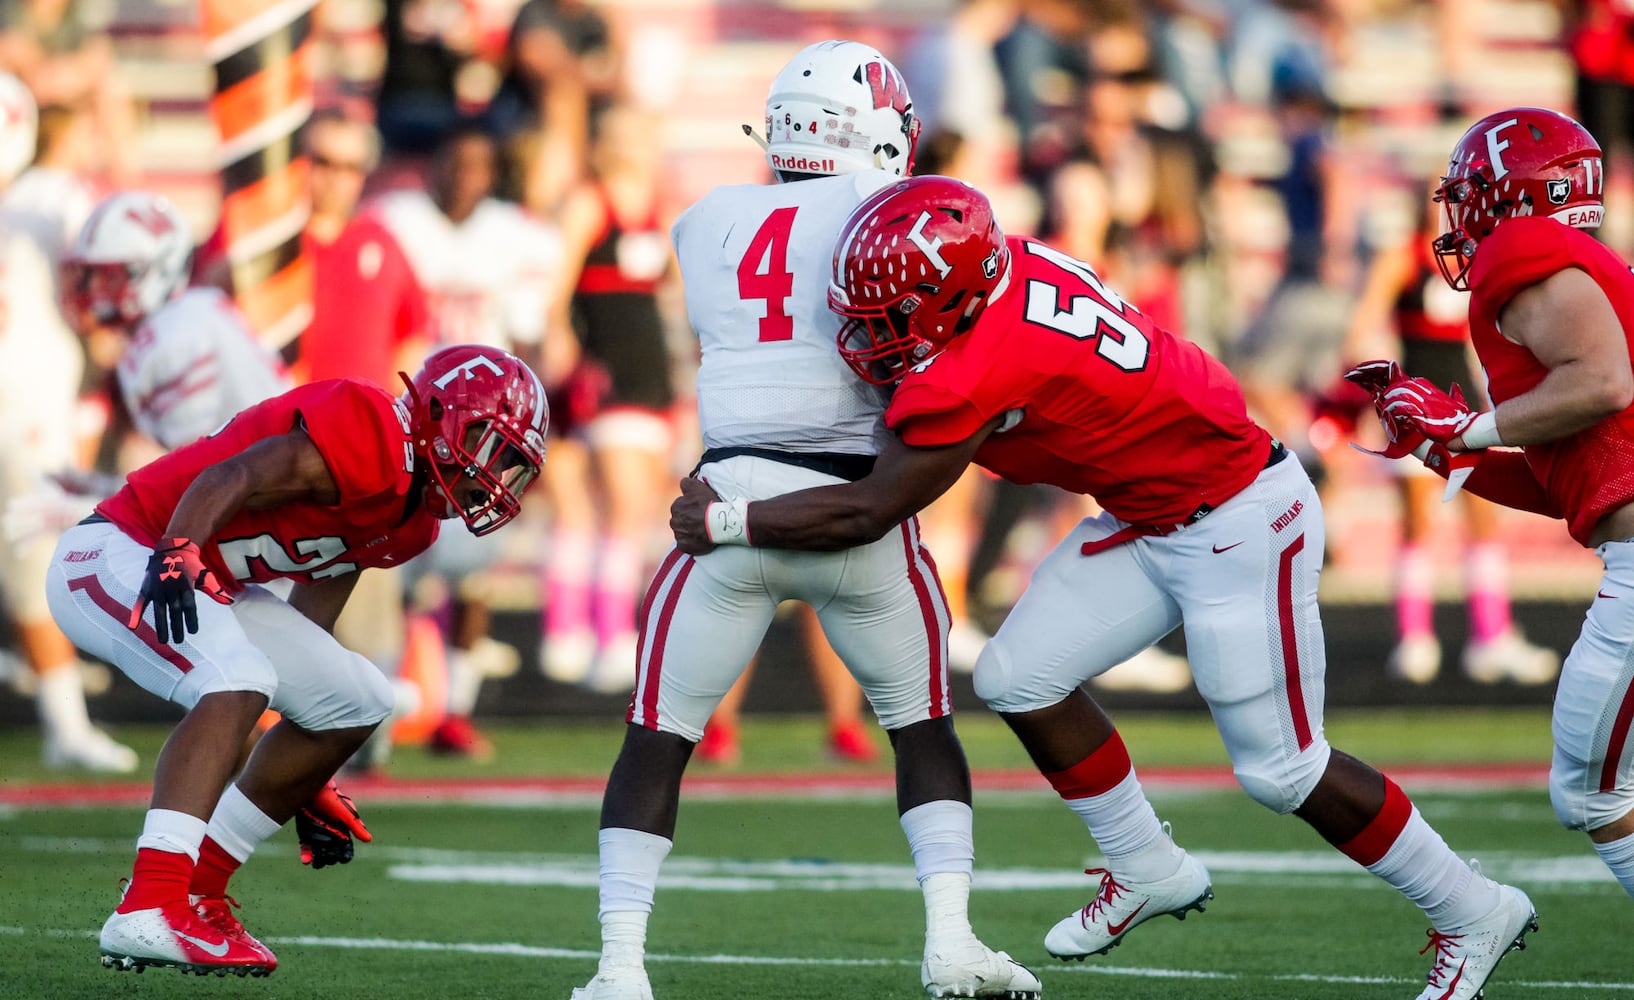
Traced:
<path id="1" fill-rule="evenodd" d="M 170 199 L 152 191 L 105 198 L 62 261 L 70 319 L 134 327 L 188 284 L 193 234 Z"/>

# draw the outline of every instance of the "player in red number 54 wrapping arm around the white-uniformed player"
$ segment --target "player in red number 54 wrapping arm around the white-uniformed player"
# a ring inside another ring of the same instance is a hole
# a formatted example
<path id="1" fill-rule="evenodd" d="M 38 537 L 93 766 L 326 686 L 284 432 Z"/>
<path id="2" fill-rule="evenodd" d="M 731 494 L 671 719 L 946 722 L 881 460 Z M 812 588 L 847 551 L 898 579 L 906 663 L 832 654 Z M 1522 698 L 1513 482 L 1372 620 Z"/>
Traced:
<path id="1" fill-rule="evenodd" d="M 1242 788 L 1292 812 L 1417 904 L 1435 930 L 1422 997 L 1469 1000 L 1536 923 L 1520 889 L 1461 861 L 1400 788 L 1328 747 L 1317 613 L 1322 507 L 1214 358 L 1155 327 L 1082 261 L 1005 239 L 948 178 L 863 203 L 835 250 L 840 351 L 897 382 L 895 438 L 853 484 L 743 503 L 683 482 L 676 542 L 837 549 L 879 538 L 975 461 L 1093 495 L 975 665 L 975 691 L 1088 827 L 1106 869 L 1044 948 L 1082 959 L 1212 897 L 1170 840 L 1083 681 L 1178 626 Z M 1428 946 L 1426 946 L 1428 949 Z"/>

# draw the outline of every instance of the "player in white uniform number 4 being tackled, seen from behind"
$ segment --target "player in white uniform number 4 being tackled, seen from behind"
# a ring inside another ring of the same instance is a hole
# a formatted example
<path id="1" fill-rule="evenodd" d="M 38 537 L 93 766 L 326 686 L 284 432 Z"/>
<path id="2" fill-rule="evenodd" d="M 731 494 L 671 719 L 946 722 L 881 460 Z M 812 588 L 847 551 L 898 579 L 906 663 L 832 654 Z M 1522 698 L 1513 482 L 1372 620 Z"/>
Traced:
<path id="1" fill-rule="evenodd" d="M 884 56 L 819 42 L 778 74 L 766 100 L 766 160 L 784 183 L 716 188 L 675 222 L 703 345 L 701 475 L 722 495 L 775 497 L 873 466 L 884 397 L 835 350 L 830 258 L 846 214 L 909 173 L 917 136 L 907 87 Z M 601 802 L 601 961 L 574 1000 L 652 998 L 647 918 L 681 773 L 784 600 L 817 609 L 895 750 L 897 810 L 925 894 L 923 987 L 1038 997 L 1038 979 L 971 930 L 971 773 L 951 719 L 948 608 L 910 520 L 832 554 L 670 551 L 647 590 L 629 725 Z"/>

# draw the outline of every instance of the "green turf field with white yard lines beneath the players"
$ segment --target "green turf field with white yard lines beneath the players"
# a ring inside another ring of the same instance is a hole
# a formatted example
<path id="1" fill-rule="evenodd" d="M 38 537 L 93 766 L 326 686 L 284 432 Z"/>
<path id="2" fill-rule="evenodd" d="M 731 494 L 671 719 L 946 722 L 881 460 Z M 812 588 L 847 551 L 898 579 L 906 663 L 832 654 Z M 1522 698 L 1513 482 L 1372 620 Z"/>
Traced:
<path id="1" fill-rule="evenodd" d="M 1137 765 L 1219 765 L 1204 719 L 1121 719 Z M 961 722 L 977 768 L 1023 766 L 990 717 Z M 1539 761 L 1541 712 L 1340 716 L 1335 745 L 1379 763 Z M 152 760 L 162 730 L 121 730 Z M 493 734 L 489 765 L 402 752 L 394 775 L 600 775 L 618 727 L 552 724 Z M 745 732 L 745 770 L 832 771 L 810 721 Z M 0 783 L 33 770 L 34 734 L 0 734 Z M 1415 789 L 1456 850 L 1523 886 L 1541 913 L 1531 946 L 1487 990 L 1634 1000 L 1629 899 L 1587 842 L 1560 830 L 1542 788 Z M 1413 997 L 1425 923 L 1394 892 L 1327 850 L 1299 820 L 1240 792 L 1154 789 L 1176 840 L 1214 873 L 1217 899 L 1185 923 L 1147 923 L 1109 956 L 1062 964 L 1044 930 L 1085 904 L 1095 863 L 1082 825 L 1047 792 L 977 792 L 977 931 L 1031 964 L 1047 997 Z M 247 926 L 281 959 L 266 980 L 142 975 L 96 964 L 95 933 L 127 874 L 137 807 L 0 809 L 0 997 L 546 997 L 595 967 L 596 807 L 363 802 L 377 840 L 320 873 L 283 833 L 240 874 Z M 887 796 L 711 799 L 683 804 L 649 935 L 659 1000 L 920 997 L 920 897 Z"/>

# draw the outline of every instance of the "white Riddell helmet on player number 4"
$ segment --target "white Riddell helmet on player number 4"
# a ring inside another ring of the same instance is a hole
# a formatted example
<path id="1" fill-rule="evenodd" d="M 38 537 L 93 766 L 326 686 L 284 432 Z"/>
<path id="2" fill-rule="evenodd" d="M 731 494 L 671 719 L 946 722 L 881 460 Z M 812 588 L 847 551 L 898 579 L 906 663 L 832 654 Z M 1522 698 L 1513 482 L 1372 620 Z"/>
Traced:
<path id="1" fill-rule="evenodd" d="M 863 42 L 801 49 L 766 95 L 766 162 L 779 173 L 907 176 L 918 132 L 902 74 Z"/>

